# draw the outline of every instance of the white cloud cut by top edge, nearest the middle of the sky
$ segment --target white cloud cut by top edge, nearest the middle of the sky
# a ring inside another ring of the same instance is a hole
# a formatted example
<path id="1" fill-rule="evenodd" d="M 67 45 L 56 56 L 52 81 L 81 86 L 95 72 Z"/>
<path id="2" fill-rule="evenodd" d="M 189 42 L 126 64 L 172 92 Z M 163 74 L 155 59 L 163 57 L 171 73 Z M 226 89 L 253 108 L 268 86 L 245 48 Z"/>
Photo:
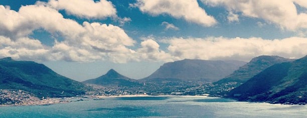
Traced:
<path id="1" fill-rule="evenodd" d="M 207 15 L 205 10 L 199 7 L 196 0 L 137 0 L 136 4 L 130 6 L 138 7 L 141 12 L 152 16 L 168 14 L 174 18 L 183 18 L 188 22 L 197 23 L 205 27 L 213 26 L 217 23 L 212 16 Z"/>

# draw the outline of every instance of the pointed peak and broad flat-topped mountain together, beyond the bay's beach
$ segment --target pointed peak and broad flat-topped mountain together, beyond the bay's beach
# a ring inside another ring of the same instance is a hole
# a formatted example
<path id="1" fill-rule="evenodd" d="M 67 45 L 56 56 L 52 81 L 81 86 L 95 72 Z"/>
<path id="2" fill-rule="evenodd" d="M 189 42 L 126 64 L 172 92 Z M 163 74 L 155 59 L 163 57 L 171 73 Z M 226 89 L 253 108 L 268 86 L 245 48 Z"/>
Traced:
<path id="1" fill-rule="evenodd" d="M 223 78 L 245 63 L 243 61 L 185 59 L 165 63 L 156 72 L 140 80 L 125 77 L 110 69 L 106 74 L 82 83 L 127 89 L 141 87 L 143 90 L 150 92 L 169 92 L 173 89 L 208 83 Z"/>

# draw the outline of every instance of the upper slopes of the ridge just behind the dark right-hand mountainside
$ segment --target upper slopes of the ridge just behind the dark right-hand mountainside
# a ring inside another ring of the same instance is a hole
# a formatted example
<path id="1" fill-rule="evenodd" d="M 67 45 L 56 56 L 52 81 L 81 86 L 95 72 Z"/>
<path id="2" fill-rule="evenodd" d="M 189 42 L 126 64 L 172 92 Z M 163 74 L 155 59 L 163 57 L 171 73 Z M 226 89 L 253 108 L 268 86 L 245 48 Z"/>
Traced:
<path id="1" fill-rule="evenodd" d="M 293 59 L 286 59 L 279 56 L 258 56 L 253 58 L 250 62 L 240 67 L 238 70 L 234 71 L 229 76 L 225 77 L 224 79 L 221 79 L 217 82 L 214 82 L 215 84 L 222 84 L 222 83 L 228 83 L 228 82 L 238 82 L 238 83 L 244 83 L 249 78 L 255 76 L 256 74 L 260 73 L 264 69 L 282 62 L 289 62 L 293 61 Z"/>

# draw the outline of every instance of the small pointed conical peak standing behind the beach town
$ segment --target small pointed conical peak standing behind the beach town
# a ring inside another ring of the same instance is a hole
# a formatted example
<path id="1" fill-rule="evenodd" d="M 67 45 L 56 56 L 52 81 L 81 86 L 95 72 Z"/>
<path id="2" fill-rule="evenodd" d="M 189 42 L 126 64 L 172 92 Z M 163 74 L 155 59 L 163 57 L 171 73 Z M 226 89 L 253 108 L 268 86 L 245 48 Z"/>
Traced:
<path id="1" fill-rule="evenodd" d="M 125 77 L 113 69 L 110 69 L 105 75 L 83 81 L 82 83 L 97 84 L 106 87 L 135 87 L 142 85 L 137 80 Z"/>

